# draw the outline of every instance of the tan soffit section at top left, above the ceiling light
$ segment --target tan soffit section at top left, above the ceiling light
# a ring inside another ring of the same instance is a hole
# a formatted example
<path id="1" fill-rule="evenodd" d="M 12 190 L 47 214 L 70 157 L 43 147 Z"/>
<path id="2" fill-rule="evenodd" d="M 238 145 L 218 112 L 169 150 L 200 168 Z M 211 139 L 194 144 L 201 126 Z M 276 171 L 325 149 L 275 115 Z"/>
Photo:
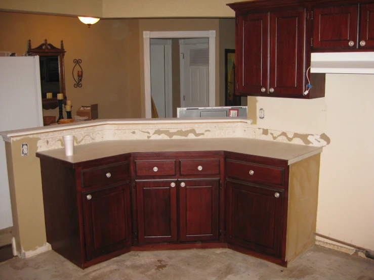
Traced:
<path id="1" fill-rule="evenodd" d="M 0 0 L 0 10 L 102 17 L 102 0 Z"/>

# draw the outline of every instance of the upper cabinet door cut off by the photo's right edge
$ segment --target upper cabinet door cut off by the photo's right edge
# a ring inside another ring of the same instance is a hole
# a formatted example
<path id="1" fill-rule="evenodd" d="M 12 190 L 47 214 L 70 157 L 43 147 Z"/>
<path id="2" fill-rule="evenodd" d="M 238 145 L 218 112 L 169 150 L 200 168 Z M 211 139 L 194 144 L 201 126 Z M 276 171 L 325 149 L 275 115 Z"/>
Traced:
<path id="1" fill-rule="evenodd" d="M 361 6 L 360 49 L 374 48 L 374 4 Z"/>

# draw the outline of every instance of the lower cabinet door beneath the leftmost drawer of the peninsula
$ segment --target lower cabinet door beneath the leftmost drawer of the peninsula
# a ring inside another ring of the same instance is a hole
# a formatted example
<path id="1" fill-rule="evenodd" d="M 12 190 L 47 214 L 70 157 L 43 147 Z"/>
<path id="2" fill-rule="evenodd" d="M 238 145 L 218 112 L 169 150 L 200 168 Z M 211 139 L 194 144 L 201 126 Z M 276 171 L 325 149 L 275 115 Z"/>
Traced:
<path id="1" fill-rule="evenodd" d="M 129 182 L 82 192 L 82 205 L 87 260 L 131 246 Z"/>

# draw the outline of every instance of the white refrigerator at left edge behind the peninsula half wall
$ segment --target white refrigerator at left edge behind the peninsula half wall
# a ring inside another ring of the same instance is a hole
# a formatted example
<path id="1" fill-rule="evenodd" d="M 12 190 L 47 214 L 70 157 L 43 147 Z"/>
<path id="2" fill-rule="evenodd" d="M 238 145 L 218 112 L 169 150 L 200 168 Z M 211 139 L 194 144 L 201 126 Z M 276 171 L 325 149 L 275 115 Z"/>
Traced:
<path id="1" fill-rule="evenodd" d="M 0 57 L 0 131 L 37 126 L 43 126 L 39 57 Z M 0 141 L 0 229 L 12 225 L 5 143 Z"/>

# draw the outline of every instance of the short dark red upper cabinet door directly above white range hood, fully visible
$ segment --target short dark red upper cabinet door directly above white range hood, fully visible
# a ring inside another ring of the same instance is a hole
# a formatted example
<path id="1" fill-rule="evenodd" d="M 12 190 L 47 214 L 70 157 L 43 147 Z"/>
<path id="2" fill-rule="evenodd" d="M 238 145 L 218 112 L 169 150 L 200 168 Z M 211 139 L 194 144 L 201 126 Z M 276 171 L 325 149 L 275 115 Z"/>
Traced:
<path id="1" fill-rule="evenodd" d="M 357 10 L 357 5 L 314 9 L 313 49 L 357 49 Z"/>

